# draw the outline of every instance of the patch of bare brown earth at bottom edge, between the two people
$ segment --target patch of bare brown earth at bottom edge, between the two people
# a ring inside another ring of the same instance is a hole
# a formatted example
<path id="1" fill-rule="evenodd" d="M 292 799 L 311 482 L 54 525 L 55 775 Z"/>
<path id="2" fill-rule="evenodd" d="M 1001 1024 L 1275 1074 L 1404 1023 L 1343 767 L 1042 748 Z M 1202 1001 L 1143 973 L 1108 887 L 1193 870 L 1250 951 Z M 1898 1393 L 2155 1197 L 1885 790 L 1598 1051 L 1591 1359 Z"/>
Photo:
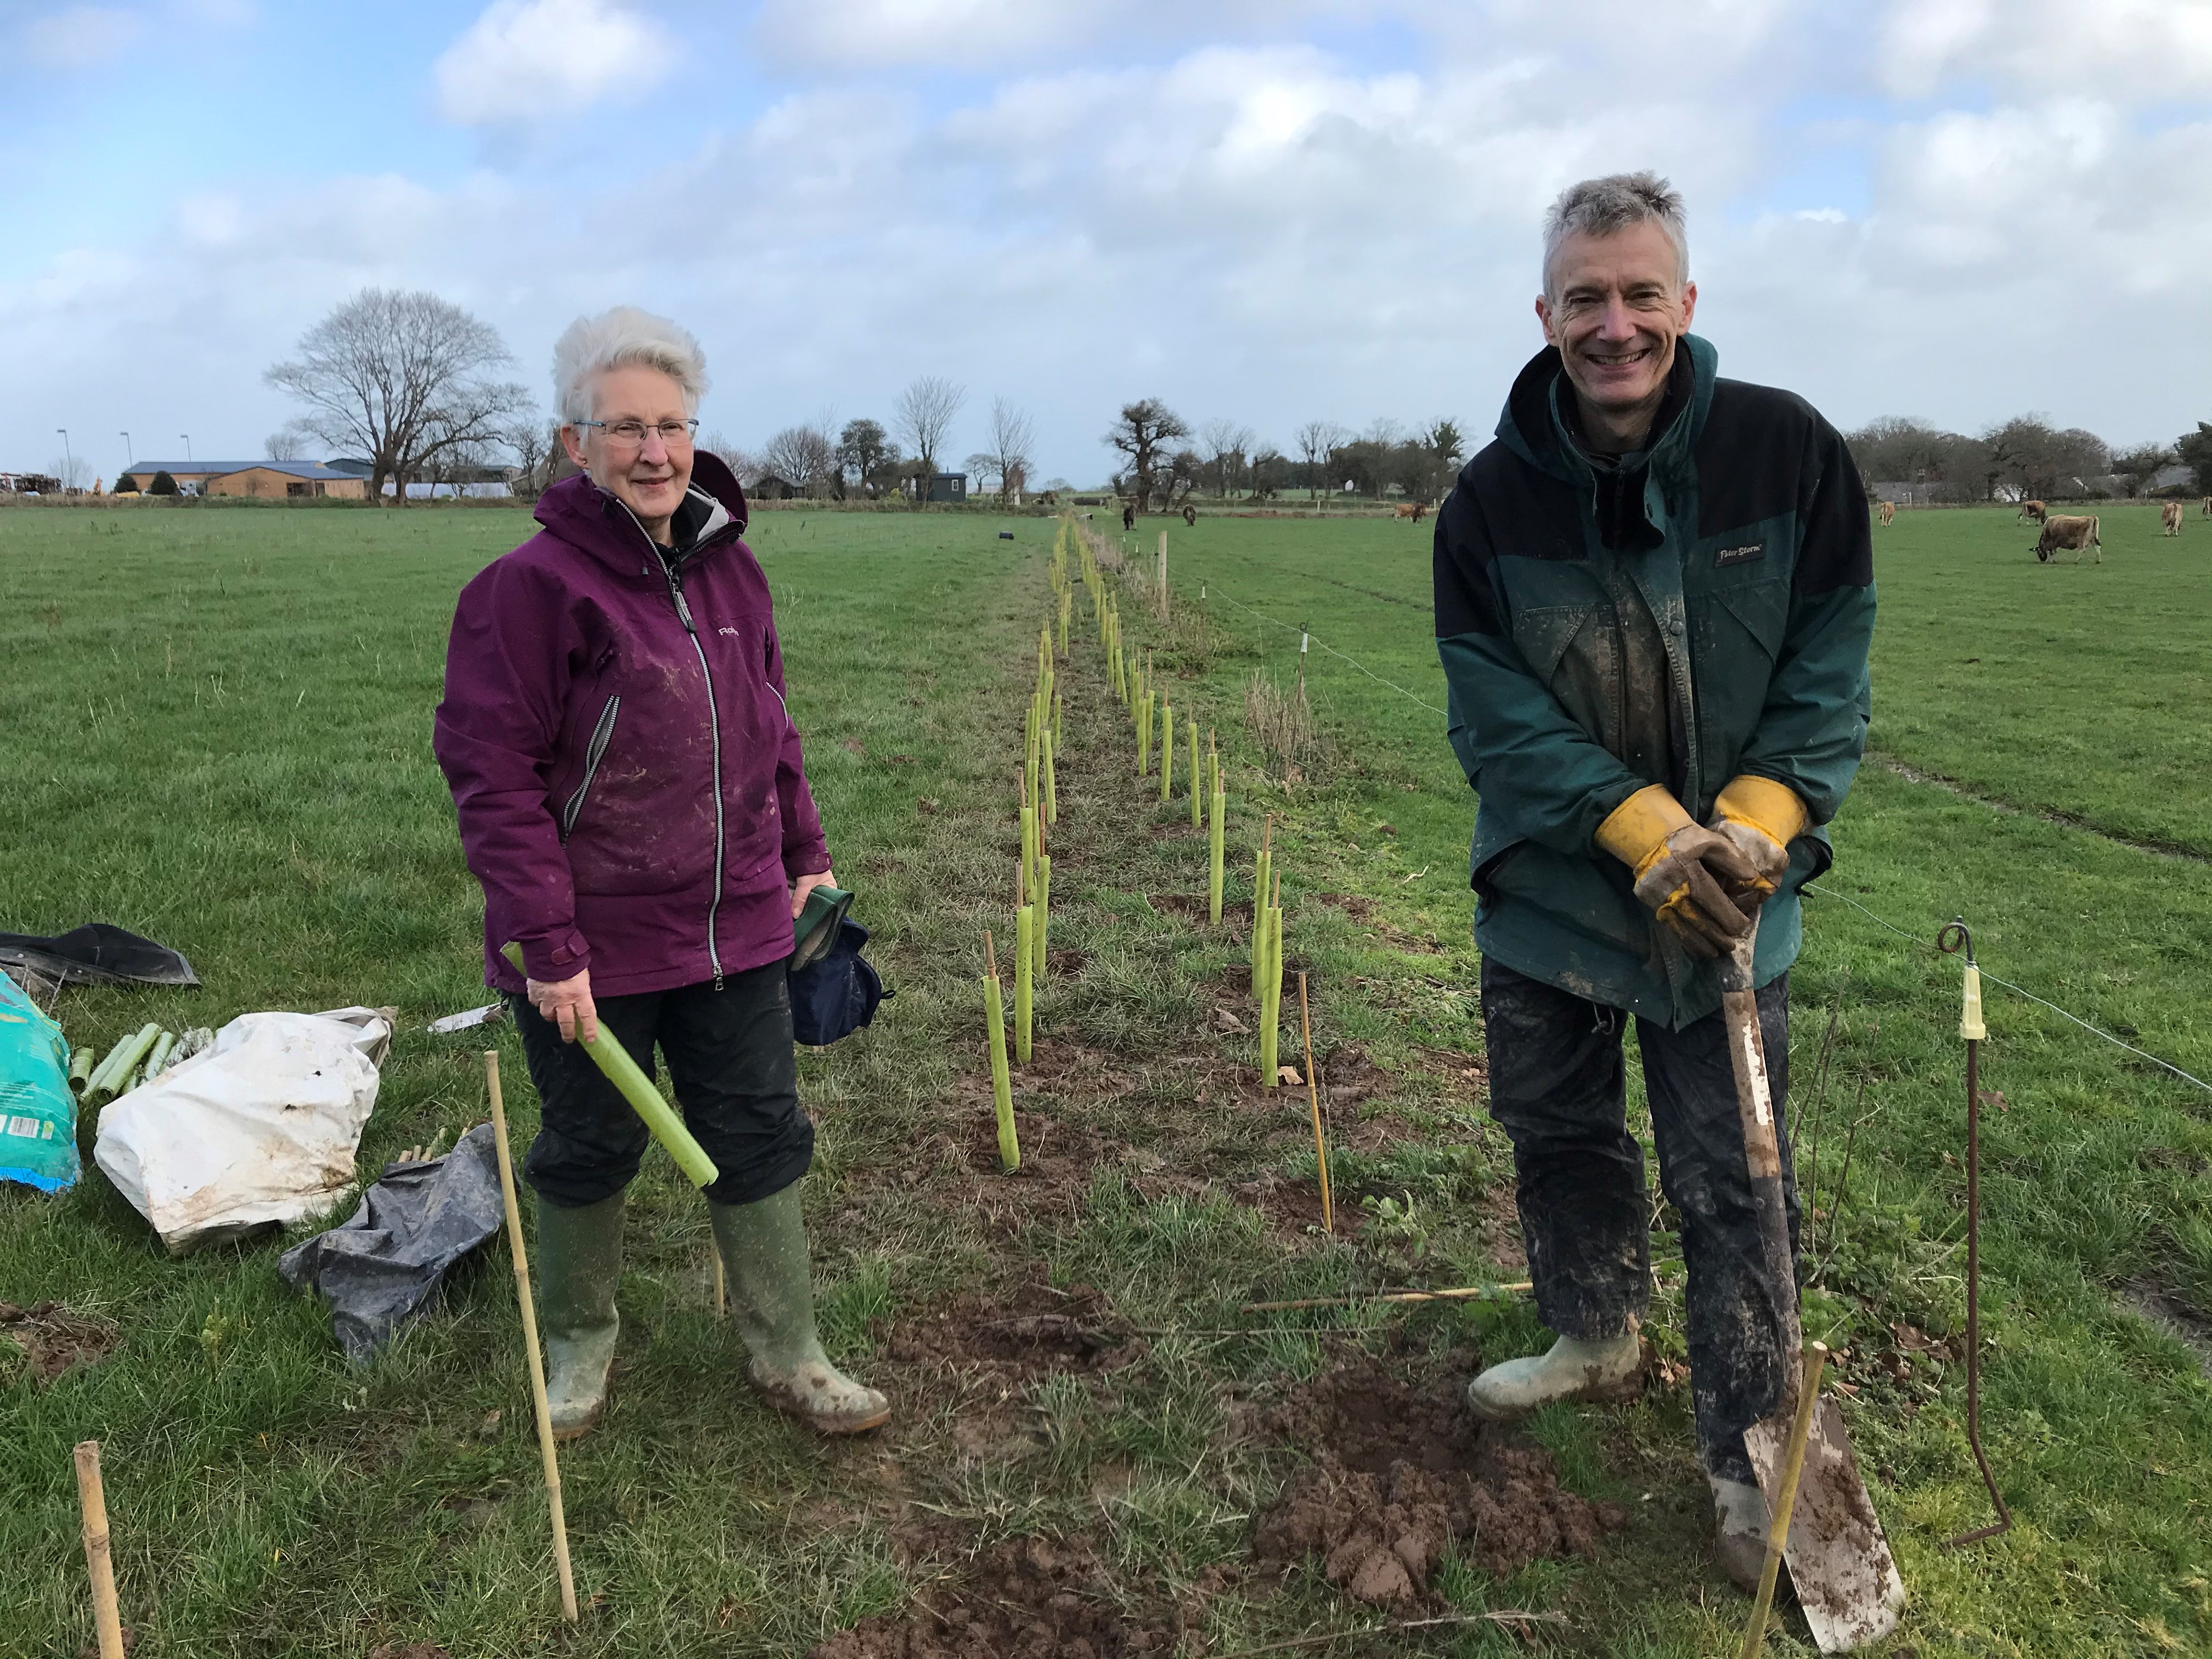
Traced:
<path id="1" fill-rule="evenodd" d="M 1172 1606 L 1126 1601 L 1084 1540 L 993 1544 L 949 1586 L 863 1619 L 807 1659 L 1117 1659 L 1170 1652 Z"/>

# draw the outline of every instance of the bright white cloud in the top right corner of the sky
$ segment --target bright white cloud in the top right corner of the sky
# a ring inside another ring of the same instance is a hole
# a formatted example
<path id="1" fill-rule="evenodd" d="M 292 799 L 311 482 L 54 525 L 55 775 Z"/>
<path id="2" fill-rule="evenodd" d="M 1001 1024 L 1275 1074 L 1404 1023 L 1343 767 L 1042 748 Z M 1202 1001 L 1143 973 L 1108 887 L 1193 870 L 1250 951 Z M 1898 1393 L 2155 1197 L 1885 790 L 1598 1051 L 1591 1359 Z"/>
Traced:
<path id="1" fill-rule="evenodd" d="M 2004 91 L 2112 93 L 2161 102 L 2212 91 L 2205 0 L 1891 0 L 1882 84 L 1927 97 L 1953 80 Z"/>

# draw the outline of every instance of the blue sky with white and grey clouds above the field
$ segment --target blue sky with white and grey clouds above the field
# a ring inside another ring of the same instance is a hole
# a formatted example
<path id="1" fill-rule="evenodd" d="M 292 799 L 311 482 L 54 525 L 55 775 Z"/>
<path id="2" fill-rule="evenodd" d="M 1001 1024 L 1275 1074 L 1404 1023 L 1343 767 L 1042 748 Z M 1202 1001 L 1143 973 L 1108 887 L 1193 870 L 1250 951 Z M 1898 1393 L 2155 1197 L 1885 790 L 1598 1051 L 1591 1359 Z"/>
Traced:
<path id="1" fill-rule="evenodd" d="M 710 429 L 916 374 L 1104 478 L 1161 396 L 1486 434 L 1537 228 L 1650 166 L 1723 374 L 1838 425 L 2212 420 L 2212 0 L 0 0 L 0 469 L 252 458 L 369 283 L 518 378 L 628 301 Z M 551 403 L 551 396 L 546 403 Z"/>

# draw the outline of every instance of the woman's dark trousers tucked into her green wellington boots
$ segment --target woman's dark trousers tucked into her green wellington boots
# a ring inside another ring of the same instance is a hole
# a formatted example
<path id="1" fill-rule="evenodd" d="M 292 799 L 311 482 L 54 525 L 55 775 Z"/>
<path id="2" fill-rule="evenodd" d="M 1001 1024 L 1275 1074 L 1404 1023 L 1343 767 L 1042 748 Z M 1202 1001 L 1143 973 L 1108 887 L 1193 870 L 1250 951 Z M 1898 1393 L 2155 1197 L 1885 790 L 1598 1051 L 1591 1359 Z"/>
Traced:
<path id="1" fill-rule="evenodd" d="M 615 1197 L 637 1175 L 653 1133 L 580 1042 L 524 998 L 509 995 L 522 1057 L 542 1104 L 542 1128 L 522 1172 L 538 1197 L 564 1208 Z M 814 1121 L 799 1108 L 792 993 L 783 962 L 686 984 L 677 991 L 597 998 L 599 1029 L 613 1031 L 646 1077 L 655 1046 L 668 1060 L 677 1108 L 721 1177 L 714 1203 L 752 1203 L 781 1192 L 814 1161 Z"/>

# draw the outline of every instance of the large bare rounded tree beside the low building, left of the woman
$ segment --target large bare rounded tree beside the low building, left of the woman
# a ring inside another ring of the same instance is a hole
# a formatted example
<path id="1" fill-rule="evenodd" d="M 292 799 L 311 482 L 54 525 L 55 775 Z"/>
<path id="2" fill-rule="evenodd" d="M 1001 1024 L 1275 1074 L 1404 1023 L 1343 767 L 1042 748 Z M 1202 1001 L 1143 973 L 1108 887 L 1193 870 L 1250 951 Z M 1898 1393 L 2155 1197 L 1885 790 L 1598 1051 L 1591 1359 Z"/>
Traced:
<path id="1" fill-rule="evenodd" d="M 407 480 L 442 451 L 495 442 L 529 407 L 520 385 L 484 378 L 511 361 L 498 330 L 458 305 L 365 288 L 261 378 L 307 405 L 299 431 L 367 456 L 372 500 L 392 478 L 405 502 Z"/>

